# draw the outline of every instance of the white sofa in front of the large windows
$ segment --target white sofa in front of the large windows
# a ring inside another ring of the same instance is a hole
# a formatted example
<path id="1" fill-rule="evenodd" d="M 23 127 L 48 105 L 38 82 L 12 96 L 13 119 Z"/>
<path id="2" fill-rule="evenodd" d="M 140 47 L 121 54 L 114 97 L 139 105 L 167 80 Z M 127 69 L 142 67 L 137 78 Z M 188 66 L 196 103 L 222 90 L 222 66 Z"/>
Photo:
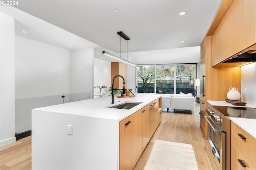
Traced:
<path id="1" fill-rule="evenodd" d="M 195 109 L 195 98 L 192 94 L 162 94 L 162 107 L 169 109 L 191 110 Z"/>

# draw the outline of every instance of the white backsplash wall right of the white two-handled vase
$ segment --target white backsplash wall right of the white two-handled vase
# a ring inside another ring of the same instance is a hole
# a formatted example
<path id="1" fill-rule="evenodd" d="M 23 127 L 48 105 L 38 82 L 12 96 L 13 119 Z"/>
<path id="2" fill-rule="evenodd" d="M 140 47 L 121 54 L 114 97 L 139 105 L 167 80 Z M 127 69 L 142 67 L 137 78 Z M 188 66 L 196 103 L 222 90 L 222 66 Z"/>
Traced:
<path id="1" fill-rule="evenodd" d="M 256 106 L 256 63 L 241 67 L 241 101 Z"/>

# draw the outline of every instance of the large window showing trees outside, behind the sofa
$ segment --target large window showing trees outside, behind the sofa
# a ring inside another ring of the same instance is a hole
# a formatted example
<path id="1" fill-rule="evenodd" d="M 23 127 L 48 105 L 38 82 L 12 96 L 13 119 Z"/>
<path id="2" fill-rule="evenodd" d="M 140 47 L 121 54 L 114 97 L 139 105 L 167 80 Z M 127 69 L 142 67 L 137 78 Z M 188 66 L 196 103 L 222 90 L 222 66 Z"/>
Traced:
<path id="1" fill-rule="evenodd" d="M 138 93 L 177 94 L 194 88 L 196 64 L 137 66 Z"/>

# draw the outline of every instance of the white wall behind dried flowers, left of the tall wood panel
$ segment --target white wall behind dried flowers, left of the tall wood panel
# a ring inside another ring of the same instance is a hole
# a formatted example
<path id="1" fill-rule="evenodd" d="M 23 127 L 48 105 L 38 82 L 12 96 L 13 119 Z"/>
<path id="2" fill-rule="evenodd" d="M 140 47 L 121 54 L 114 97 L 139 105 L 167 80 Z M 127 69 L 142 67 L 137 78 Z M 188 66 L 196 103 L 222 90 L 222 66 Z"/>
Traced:
<path id="1" fill-rule="evenodd" d="M 100 60 L 94 58 L 94 85 L 93 86 L 107 86 L 104 92 L 108 93 L 108 89 L 112 86 L 112 82 L 110 82 L 110 74 L 111 74 L 111 63 L 108 61 Z M 99 95 L 99 88 L 94 88 L 94 95 Z M 94 96 L 97 98 L 98 96 Z"/>

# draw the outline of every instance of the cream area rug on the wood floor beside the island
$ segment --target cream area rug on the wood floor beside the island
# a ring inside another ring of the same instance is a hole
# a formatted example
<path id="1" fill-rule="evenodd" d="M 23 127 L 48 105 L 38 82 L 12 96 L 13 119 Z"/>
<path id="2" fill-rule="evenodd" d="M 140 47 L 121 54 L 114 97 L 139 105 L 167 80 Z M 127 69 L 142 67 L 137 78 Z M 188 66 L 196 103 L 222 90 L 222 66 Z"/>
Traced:
<path id="1" fill-rule="evenodd" d="M 144 170 L 198 170 L 192 145 L 156 140 Z"/>

